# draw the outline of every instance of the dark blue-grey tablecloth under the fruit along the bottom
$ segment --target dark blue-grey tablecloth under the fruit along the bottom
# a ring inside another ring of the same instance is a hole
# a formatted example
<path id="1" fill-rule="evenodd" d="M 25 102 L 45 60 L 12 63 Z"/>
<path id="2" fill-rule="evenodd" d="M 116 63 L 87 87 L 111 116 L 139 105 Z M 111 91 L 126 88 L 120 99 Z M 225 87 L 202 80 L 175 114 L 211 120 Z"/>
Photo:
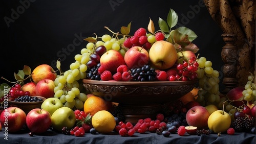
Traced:
<path id="1" fill-rule="evenodd" d="M 18 133 L 8 133 L 8 140 L 0 131 L 0 143 L 256 143 L 256 135 L 251 133 L 235 133 L 234 135 L 217 134 L 210 135 L 188 135 L 179 136 L 170 134 L 169 137 L 156 133 L 135 133 L 133 136 L 120 136 L 116 132 L 109 134 L 90 134 L 86 133 L 82 137 L 74 135 L 64 135 L 55 131 L 48 130 L 41 135 L 29 136 L 27 131 Z"/>

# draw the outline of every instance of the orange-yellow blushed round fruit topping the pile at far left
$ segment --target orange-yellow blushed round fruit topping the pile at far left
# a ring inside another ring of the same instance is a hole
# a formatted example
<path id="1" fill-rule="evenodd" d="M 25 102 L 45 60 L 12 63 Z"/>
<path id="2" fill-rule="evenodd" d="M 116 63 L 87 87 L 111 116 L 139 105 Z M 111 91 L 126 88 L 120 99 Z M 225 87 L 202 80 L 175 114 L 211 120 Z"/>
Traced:
<path id="1" fill-rule="evenodd" d="M 48 64 L 38 65 L 32 71 L 32 79 L 35 83 L 38 83 L 40 80 L 50 79 L 54 81 L 57 77 L 54 69 Z"/>

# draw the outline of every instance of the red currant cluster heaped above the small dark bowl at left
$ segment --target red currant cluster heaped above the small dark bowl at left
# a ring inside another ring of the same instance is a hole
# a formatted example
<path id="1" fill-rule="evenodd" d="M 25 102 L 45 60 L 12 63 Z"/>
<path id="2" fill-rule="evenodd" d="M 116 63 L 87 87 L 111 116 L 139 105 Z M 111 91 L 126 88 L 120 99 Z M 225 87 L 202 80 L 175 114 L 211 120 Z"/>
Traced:
<path id="1" fill-rule="evenodd" d="M 22 85 L 20 84 L 15 84 L 13 87 L 10 88 L 10 91 L 8 93 L 8 98 L 10 98 L 9 100 L 15 100 L 18 97 L 21 97 L 23 95 L 28 95 L 30 96 L 30 92 L 29 91 L 23 91 L 22 89 Z M 0 99 L 0 102 L 3 102 L 5 99 L 5 97 L 2 97 Z"/>

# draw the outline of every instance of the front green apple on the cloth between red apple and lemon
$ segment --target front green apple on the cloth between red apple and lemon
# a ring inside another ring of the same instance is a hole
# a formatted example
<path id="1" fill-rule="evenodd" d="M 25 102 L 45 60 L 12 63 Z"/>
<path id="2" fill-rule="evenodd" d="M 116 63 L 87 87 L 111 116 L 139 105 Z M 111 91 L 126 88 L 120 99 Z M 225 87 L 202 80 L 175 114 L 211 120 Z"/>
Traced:
<path id="1" fill-rule="evenodd" d="M 52 114 L 52 127 L 61 131 L 63 127 L 68 129 L 73 128 L 76 123 L 76 117 L 74 111 L 69 107 L 61 107 L 55 110 Z"/>

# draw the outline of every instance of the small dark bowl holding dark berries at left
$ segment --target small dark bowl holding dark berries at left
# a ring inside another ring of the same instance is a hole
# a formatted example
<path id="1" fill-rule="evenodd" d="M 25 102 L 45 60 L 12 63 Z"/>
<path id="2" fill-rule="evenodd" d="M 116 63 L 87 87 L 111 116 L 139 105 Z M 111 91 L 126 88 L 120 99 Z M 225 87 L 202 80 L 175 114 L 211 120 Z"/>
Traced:
<path id="1" fill-rule="evenodd" d="M 41 104 L 46 100 L 44 97 L 39 97 L 39 96 L 33 96 L 37 97 L 38 99 L 42 99 L 40 102 L 15 102 L 8 100 L 8 104 L 10 104 L 11 107 L 18 107 L 22 109 L 26 114 L 30 112 L 30 110 L 35 109 L 35 108 L 41 108 Z"/>

